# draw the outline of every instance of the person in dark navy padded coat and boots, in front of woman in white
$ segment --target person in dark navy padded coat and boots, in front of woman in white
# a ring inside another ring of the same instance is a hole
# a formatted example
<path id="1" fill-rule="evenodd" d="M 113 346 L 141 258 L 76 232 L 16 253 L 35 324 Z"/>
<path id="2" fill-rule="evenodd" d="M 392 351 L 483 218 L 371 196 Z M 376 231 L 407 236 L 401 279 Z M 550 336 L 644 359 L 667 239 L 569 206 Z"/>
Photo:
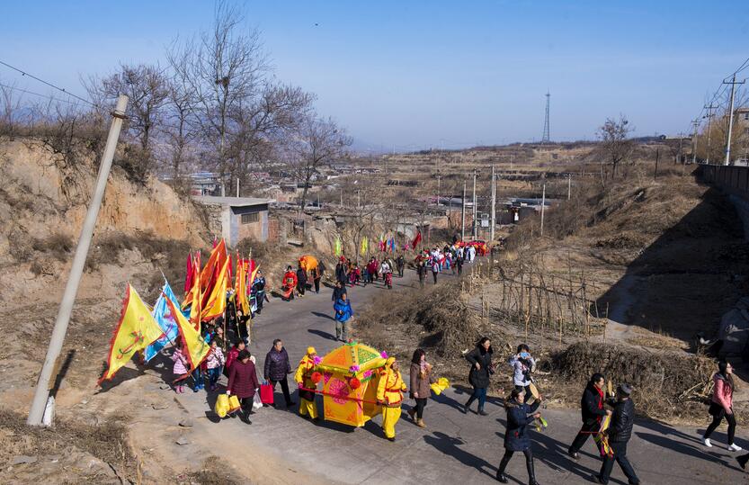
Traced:
<path id="1" fill-rule="evenodd" d="M 522 452 L 525 455 L 525 467 L 528 470 L 528 483 L 538 485 L 536 473 L 533 470 L 533 452 L 531 451 L 531 438 L 528 436 L 528 425 L 540 418 L 540 413 L 536 412 L 540 403 L 540 400 L 535 400 L 531 405 L 525 404 L 525 391 L 522 389 L 513 389 L 504 401 L 504 409 L 507 411 L 507 430 L 504 432 L 504 456 L 496 471 L 497 481 L 507 483 L 507 477 L 504 475 L 507 463 L 510 463 L 515 452 Z"/>

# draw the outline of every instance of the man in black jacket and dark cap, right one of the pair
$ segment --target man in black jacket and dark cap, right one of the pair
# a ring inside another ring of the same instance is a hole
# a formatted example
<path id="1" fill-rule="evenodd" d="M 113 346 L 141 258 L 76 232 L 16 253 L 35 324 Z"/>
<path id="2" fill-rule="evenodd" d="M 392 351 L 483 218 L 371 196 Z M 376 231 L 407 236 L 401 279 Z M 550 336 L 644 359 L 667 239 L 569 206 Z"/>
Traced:
<path id="1" fill-rule="evenodd" d="M 621 471 L 627 475 L 630 485 L 638 485 L 640 482 L 637 473 L 627 459 L 627 443 L 632 437 L 632 425 L 635 422 L 635 403 L 629 397 L 632 388 L 629 384 L 621 384 L 617 389 L 617 399 L 613 402 L 614 412 L 611 415 L 611 423 L 607 434 L 609 435 L 609 446 L 611 446 L 612 456 L 603 457 L 601 473 L 593 476 L 598 483 L 609 483 L 611 470 L 614 461 L 619 463 Z"/>

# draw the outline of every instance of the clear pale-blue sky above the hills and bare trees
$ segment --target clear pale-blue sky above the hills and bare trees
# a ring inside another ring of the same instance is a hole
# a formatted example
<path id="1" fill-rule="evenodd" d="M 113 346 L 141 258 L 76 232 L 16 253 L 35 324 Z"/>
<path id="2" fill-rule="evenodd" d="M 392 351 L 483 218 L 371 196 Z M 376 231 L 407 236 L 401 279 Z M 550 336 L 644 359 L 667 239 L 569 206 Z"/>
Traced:
<path id="1" fill-rule="evenodd" d="M 749 58 L 745 0 L 236 3 L 274 76 L 361 149 L 538 141 L 547 90 L 551 139 L 594 139 L 620 113 L 638 136 L 676 135 Z M 84 95 L 81 76 L 165 65 L 212 15 L 208 0 L 8 2 L 0 60 Z M 3 66 L 0 82 L 49 93 Z"/>

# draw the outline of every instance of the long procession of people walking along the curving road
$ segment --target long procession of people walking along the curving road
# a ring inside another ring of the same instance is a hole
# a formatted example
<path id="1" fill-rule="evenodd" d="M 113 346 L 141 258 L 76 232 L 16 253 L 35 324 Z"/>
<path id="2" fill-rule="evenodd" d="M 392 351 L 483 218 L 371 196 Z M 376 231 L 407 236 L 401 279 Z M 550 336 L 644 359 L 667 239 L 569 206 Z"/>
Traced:
<path id="1" fill-rule="evenodd" d="M 424 287 L 424 280 L 429 271 L 432 272 L 432 281 L 436 284 L 438 274 L 443 271 L 461 274 L 463 265 L 472 262 L 476 256 L 477 247 L 453 245 L 443 248 L 434 247 L 431 250 L 424 249 L 418 253 L 413 262 L 420 286 Z M 370 261 L 361 267 L 357 262 L 352 262 L 345 256 L 339 258 L 334 268 L 332 292 L 336 340 L 346 342 L 350 335 L 349 323 L 353 311 L 347 287 L 366 286 L 381 281 L 385 288 L 392 289 L 393 274 L 403 277 L 405 267 L 406 259 L 403 254 L 397 256 L 395 260 L 387 255 L 380 259 L 372 256 Z M 325 271 L 326 268 L 322 262 L 319 262 L 317 267 L 309 272 L 301 265 L 296 271 L 288 266 L 283 275 L 281 298 L 285 301 L 303 298 L 308 290 L 319 293 L 320 282 Z M 247 322 L 254 315 L 262 312 L 263 301 L 270 301 L 265 294 L 265 284 L 263 274 L 258 271 L 252 283 L 252 310 L 249 315 L 242 315 L 241 310 L 237 311 L 236 307 L 233 308 L 232 303 L 229 302 L 223 319 L 219 317 L 214 321 L 205 322 L 202 326 L 202 335 L 210 342 L 210 354 L 190 375 L 193 382 L 192 391 L 201 391 L 206 384 L 210 391 L 217 391 L 220 376 L 225 375 L 227 377 L 226 395 L 235 396 L 239 404 L 236 412 L 231 416 L 239 417 L 243 422 L 251 424 L 250 416 L 254 413 L 254 409 L 263 406 L 276 407 L 273 392 L 277 386 L 281 387 L 286 409 L 293 409 L 297 406 L 297 403 L 292 400 L 292 391 L 288 382 L 288 376 L 293 374 L 293 382 L 299 388 L 299 415 L 317 420 L 320 413 L 316 402 L 317 381 L 313 373 L 319 358 L 314 347 L 308 347 L 306 354 L 299 360 L 299 364 L 293 368 L 290 355 L 281 339 L 274 340 L 264 358 L 263 381 L 258 379 L 255 357 L 247 348 Z M 235 337 L 235 342 L 226 355 L 222 350 L 227 348 L 225 328 L 228 328 L 227 333 L 232 333 Z M 474 402 L 477 402 L 478 416 L 488 414 L 486 394 L 492 376 L 497 371 L 493 355 L 494 350 L 489 337 L 480 338 L 475 348 L 464 355 L 470 366 L 468 382 L 473 388 L 468 401 L 462 406 L 466 414 L 471 410 Z M 190 366 L 179 344 L 175 346 L 172 360 L 176 376 L 174 389 L 182 393 L 185 391 L 183 382 L 188 377 L 186 374 Z M 547 422 L 539 411 L 543 397 L 533 378 L 536 361 L 531 355 L 530 346 L 526 344 L 517 346 L 517 352 L 503 361 L 507 365 L 507 373 L 512 373 L 513 390 L 504 397 L 507 417 L 504 432 L 505 451 L 496 472 L 496 480 L 502 483 L 508 482 L 505 474 L 506 467 L 513 454 L 520 452 L 525 458 L 528 482 L 536 485 L 538 482 L 535 477 L 530 430 L 531 427 L 535 427 L 539 432 L 543 432 L 543 429 L 547 427 Z M 378 404 L 382 407 L 383 436 L 389 441 L 395 441 L 396 427 L 401 417 L 406 392 L 413 400 L 413 404 L 407 409 L 409 418 L 416 426 L 426 427 L 424 411 L 432 396 L 430 385 L 436 380 L 432 373 L 432 364 L 427 362 L 424 349 L 415 349 L 413 353 L 413 358 L 409 363 L 407 386 L 400 365 L 394 357 L 387 358 L 380 372 L 376 396 Z M 710 436 L 720 422 L 726 419 L 728 449 L 740 451 L 741 448 L 734 443 L 736 419 L 733 413 L 732 396 L 736 384 L 732 373 L 732 367 L 727 362 L 718 364 L 718 372 L 714 376 L 715 390 L 709 408 L 709 414 L 713 420 L 705 432 L 704 445 L 713 446 Z M 609 382 L 607 390 L 606 378 L 602 373 L 593 373 L 582 392 L 580 400 L 582 426 L 576 436 L 572 437 L 567 454 L 571 460 L 579 460 L 580 450 L 588 438 L 593 437 L 596 450 L 602 457 L 600 472 L 591 477 L 594 482 L 608 483 L 614 463 L 619 463 L 629 484 L 636 485 L 640 482 L 627 456 L 627 446 L 632 436 L 635 418 L 635 402 L 632 399 L 632 392 L 632 386 L 626 382 L 617 385 L 615 391 L 612 390 L 611 382 Z M 744 468 L 749 461 L 749 454 L 738 456 L 737 461 Z"/>

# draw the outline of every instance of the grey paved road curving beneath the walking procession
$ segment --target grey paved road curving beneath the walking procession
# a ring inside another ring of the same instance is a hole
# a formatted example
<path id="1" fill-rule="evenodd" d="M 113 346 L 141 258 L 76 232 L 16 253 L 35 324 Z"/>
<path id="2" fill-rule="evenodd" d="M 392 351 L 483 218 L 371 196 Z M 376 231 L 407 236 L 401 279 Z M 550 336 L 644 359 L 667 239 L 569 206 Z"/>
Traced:
<path id="1" fill-rule="evenodd" d="M 403 280 L 395 280 L 393 291 L 401 288 L 400 285 L 413 283 L 413 272 L 407 273 Z M 384 291 L 387 290 L 380 285 L 350 290 L 354 311 L 361 310 L 374 294 Z M 298 361 L 310 345 L 316 346 L 320 355 L 334 348 L 330 294 L 330 289 L 324 289 L 319 295 L 308 293 L 304 299 L 292 302 L 273 299 L 266 306 L 263 315 L 256 319 L 256 344 L 252 346 L 260 369 L 276 337 L 284 340 L 292 361 Z M 499 401 L 495 398 L 489 401 L 486 408 L 489 416 L 480 417 L 475 413 L 466 416 L 459 410 L 459 403 L 467 396 L 459 389 L 448 390 L 429 401 L 424 411 L 426 429 L 410 422 L 405 407 L 405 418 L 398 423 L 395 443 L 382 438 L 379 418 L 358 429 L 330 422 L 316 424 L 282 410 L 282 405 L 278 410 L 259 410 L 249 427 L 238 419 L 214 423 L 206 409 L 215 397 L 210 395 L 206 400 L 205 396 L 186 393 L 177 397 L 184 409 L 196 418 L 194 434 L 218 439 L 231 436 L 238 446 L 246 446 L 248 450 L 260 447 L 263 454 L 279 457 L 289 464 L 289 470 L 300 475 L 308 473 L 315 477 L 314 481 L 492 483 L 504 453 L 505 416 Z M 281 398 L 278 393 L 276 397 Z M 318 405 L 321 406 L 321 402 Z M 548 418 L 548 430 L 532 434 L 538 481 L 542 484 L 589 482 L 592 473 L 600 467 L 593 440 L 585 445 L 579 463 L 565 454 L 579 426 L 578 411 L 547 410 L 544 414 Z M 705 448 L 700 443 L 699 431 L 639 422 L 629 445 L 629 457 L 643 483 L 744 483 L 745 474 L 736 465 L 735 454 L 728 453 L 723 446 Z M 714 436 L 714 442 L 723 441 L 724 434 Z M 741 440 L 738 443 L 749 446 Z M 507 472 L 511 482 L 527 482 L 522 455 L 513 458 Z M 301 476 L 299 479 L 302 481 Z M 615 467 L 611 483 L 626 483 L 618 467 Z"/>

